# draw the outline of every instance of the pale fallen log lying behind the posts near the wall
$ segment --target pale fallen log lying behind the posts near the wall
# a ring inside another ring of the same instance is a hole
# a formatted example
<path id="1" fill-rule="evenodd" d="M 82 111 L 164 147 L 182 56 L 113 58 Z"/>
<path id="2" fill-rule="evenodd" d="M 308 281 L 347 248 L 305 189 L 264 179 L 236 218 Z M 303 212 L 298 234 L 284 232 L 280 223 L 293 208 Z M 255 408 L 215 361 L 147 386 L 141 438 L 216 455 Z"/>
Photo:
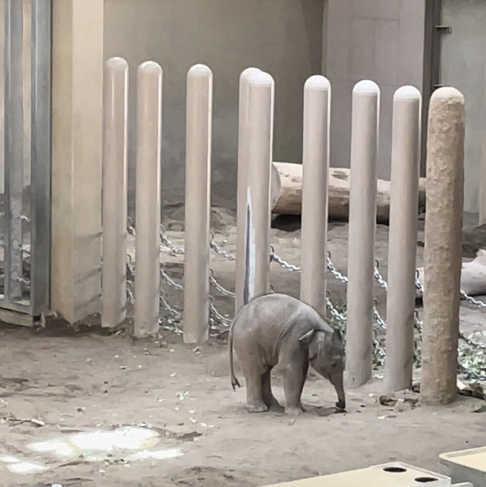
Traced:
<path id="1" fill-rule="evenodd" d="M 275 170 L 276 169 L 276 170 Z M 329 168 L 329 218 L 347 221 L 350 169 Z M 387 225 L 390 213 L 390 181 L 377 180 L 377 222 Z M 272 212 L 300 215 L 302 207 L 302 164 L 274 162 L 271 183 Z M 419 179 L 418 206 L 425 208 L 425 178 Z"/>

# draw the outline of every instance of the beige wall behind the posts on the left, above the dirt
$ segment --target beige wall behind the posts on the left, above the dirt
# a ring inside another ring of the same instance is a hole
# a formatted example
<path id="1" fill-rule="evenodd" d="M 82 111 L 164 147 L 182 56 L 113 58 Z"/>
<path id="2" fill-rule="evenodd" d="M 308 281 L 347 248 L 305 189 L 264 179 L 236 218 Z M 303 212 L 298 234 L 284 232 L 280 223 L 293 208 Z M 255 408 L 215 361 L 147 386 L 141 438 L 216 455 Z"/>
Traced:
<path id="1" fill-rule="evenodd" d="M 123 56 L 130 66 L 131 190 L 135 73 L 147 59 L 164 72 L 164 200 L 183 201 L 185 76 L 198 62 L 214 73 L 213 201 L 234 204 L 238 77 L 248 66 L 275 79 L 274 159 L 300 161 L 302 90 L 321 72 L 323 10 L 323 0 L 105 0 L 105 59 Z"/>

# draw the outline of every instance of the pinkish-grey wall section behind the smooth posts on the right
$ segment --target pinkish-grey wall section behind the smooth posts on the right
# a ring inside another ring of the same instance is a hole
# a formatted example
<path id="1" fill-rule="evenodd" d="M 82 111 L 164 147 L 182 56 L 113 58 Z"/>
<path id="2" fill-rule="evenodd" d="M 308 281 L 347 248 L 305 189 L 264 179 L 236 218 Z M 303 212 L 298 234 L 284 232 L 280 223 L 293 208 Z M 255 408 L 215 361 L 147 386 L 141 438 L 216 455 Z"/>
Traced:
<path id="1" fill-rule="evenodd" d="M 393 94 L 404 84 L 422 91 L 425 0 L 328 0 L 327 9 L 331 166 L 349 167 L 352 90 L 369 78 L 381 89 L 378 177 L 389 179 Z"/>

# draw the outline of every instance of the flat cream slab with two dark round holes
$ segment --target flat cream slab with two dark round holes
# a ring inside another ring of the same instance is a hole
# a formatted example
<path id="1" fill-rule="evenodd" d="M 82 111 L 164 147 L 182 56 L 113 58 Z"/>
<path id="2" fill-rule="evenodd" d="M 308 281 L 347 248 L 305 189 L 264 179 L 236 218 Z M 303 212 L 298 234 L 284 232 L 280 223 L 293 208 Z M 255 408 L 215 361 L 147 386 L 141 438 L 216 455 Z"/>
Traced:
<path id="1" fill-rule="evenodd" d="M 401 462 L 311 477 L 266 487 L 451 487 L 450 477 Z"/>

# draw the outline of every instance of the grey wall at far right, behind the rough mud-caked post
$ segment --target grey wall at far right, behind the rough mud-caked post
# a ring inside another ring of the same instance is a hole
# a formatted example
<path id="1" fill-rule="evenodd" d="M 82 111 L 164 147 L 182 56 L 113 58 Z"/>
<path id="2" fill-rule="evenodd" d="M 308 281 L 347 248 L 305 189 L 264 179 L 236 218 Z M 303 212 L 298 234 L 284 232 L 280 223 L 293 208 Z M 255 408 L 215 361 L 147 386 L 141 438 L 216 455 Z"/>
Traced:
<path id="1" fill-rule="evenodd" d="M 452 34 L 441 36 L 440 82 L 465 96 L 464 209 L 476 212 L 480 181 L 486 178 L 486 1 L 442 0 L 442 23 Z"/>

